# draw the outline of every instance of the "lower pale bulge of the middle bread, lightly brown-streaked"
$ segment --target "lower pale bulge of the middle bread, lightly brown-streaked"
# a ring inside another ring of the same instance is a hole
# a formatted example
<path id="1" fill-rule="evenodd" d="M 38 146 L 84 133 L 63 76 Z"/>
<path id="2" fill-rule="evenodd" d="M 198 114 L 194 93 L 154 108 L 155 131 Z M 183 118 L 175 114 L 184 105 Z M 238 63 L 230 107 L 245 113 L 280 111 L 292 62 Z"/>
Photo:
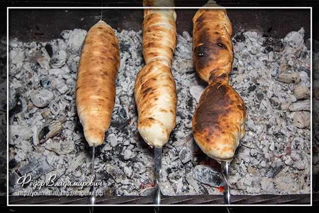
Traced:
<path id="1" fill-rule="evenodd" d="M 175 127 L 177 94 L 169 66 L 151 61 L 137 74 L 138 131 L 151 146 L 163 146 Z"/>

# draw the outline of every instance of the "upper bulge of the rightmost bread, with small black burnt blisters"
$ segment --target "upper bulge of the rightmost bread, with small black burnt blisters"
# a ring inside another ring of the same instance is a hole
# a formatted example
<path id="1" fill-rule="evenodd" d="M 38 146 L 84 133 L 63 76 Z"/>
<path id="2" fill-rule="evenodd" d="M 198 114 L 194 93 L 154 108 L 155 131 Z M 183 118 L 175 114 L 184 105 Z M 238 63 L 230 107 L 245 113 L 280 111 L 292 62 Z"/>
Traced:
<path id="1" fill-rule="evenodd" d="M 193 59 L 204 81 L 209 82 L 211 75 L 217 77 L 231 71 L 232 33 L 225 9 L 201 8 L 193 17 Z"/>

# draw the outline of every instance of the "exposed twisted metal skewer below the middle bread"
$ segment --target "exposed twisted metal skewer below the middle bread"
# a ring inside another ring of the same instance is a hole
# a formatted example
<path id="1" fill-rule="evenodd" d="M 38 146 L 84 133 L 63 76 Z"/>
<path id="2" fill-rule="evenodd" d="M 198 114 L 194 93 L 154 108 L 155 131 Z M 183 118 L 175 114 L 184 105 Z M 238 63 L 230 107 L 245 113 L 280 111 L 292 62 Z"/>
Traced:
<path id="1" fill-rule="evenodd" d="M 155 147 L 154 150 L 154 169 L 155 169 L 155 177 L 156 177 L 156 185 L 157 189 L 153 196 L 153 203 L 155 205 L 154 210 L 155 213 L 160 212 L 160 174 L 161 174 L 161 154 L 162 154 L 162 148 L 161 147 Z"/>

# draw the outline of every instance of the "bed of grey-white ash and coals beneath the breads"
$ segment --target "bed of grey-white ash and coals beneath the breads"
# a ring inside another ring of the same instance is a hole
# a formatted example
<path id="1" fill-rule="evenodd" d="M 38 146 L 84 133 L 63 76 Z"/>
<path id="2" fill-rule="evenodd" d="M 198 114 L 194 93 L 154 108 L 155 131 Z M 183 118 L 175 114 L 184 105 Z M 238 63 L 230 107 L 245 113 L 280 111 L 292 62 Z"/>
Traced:
<path id="1" fill-rule="evenodd" d="M 95 180 L 102 182 L 96 190 L 103 190 L 106 195 L 147 196 L 155 189 L 154 158 L 152 149 L 138 134 L 133 95 L 136 74 L 144 66 L 142 31 L 115 33 L 121 65 L 111 126 L 104 144 L 96 149 Z M 16 180 L 22 174 L 30 174 L 30 169 L 38 178 L 35 181 L 46 181 L 52 174 L 56 174 L 56 182 L 91 179 L 91 149 L 84 139 L 75 102 L 77 65 L 85 34 L 85 30 L 64 30 L 63 39 L 8 42 L 12 195 L 21 189 Z M 192 136 L 193 113 L 207 83 L 195 71 L 192 37 L 183 32 L 177 38 L 172 61 L 178 92 L 176 127 L 162 149 L 160 188 L 170 196 L 222 194 L 217 188 L 222 184 L 220 165 L 199 150 Z M 248 118 L 246 134 L 230 166 L 228 182 L 232 194 L 310 193 L 311 56 L 303 38 L 303 29 L 282 39 L 262 37 L 251 31 L 240 32 L 233 38 L 235 58 L 229 84 L 243 99 Z M 318 87 L 319 81 L 314 85 Z M 53 95 L 39 96 L 43 91 Z M 318 97 L 314 99 L 314 108 L 318 108 L 319 92 L 314 92 Z M 40 143 L 40 132 L 46 136 L 46 123 L 54 120 L 62 123 L 62 129 Z M 318 127 L 314 129 L 317 130 Z M 318 147 L 318 140 L 314 143 Z M 318 165 L 316 153 L 314 164 Z M 37 163 L 37 159 L 43 164 Z M 208 162 L 215 166 L 203 165 Z M 203 170 L 217 178 L 198 178 L 197 172 Z M 314 172 L 318 175 L 319 169 Z M 29 186 L 25 189 L 31 190 Z M 41 190 L 62 189 L 50 186 Z"/>

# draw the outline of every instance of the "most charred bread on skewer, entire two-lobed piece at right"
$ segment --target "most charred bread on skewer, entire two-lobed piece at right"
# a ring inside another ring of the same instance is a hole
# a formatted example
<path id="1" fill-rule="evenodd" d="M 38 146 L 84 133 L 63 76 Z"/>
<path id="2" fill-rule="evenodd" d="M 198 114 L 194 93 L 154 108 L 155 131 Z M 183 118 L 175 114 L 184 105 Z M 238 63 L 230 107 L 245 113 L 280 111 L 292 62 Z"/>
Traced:
<path id="1" fill-rule="evenodd" d="M 218 6 L 209 1 L 207 6 Z M 196 143 L 208 156 L 231 162 L 244 136 L 247 118 L 239 94 L 228 85 L 234 59 L 232 26 L 226 10 L 201 8 L 193 18 L 193 59 L 198 75 L 209 83 L 193 117 Z"/>

